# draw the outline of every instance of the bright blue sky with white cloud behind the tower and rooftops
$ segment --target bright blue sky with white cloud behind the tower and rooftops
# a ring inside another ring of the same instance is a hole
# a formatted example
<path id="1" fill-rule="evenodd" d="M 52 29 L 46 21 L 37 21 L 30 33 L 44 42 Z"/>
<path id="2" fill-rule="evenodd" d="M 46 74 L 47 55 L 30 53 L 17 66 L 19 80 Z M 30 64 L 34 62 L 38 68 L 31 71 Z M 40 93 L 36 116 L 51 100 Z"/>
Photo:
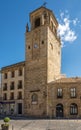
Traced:
<path id="1" fill-rule="evenodd" d="M 25 60 L 29 13 L 45 0 L 0 0 L 0 68 Z M 81 77 L 81 0 L 46 0 L 59 22 L 62 73 Z"/>

